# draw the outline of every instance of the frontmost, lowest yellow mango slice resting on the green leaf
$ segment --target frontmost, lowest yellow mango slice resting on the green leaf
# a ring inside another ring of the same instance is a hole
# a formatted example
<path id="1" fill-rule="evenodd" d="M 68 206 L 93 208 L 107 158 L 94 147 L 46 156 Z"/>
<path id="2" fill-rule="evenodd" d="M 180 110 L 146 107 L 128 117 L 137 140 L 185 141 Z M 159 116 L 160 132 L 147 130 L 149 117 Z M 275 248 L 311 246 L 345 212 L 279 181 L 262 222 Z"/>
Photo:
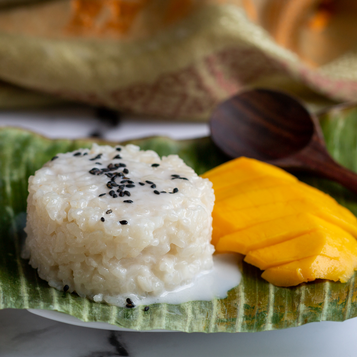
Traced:
<path id="1" fill-rule="evenodd" d="M 262 278 L 276 286 L 294 286 L 315 279 L 348 281 L 357 265 L 351 260 L 337 260 L 318 255 L 268 268 Z"/>

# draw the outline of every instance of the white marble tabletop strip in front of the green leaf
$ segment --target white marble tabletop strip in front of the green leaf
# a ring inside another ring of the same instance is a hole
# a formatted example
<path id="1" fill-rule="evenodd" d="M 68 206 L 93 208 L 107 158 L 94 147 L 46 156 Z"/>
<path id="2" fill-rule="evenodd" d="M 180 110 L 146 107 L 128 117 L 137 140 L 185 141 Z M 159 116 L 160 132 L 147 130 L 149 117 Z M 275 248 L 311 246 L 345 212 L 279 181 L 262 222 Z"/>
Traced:
<path id="1" fill-rule="evenodd" d="M 357 319 L 255 333 L 116 332 L 0 311 L 1 357 L 347 357 Z"/>

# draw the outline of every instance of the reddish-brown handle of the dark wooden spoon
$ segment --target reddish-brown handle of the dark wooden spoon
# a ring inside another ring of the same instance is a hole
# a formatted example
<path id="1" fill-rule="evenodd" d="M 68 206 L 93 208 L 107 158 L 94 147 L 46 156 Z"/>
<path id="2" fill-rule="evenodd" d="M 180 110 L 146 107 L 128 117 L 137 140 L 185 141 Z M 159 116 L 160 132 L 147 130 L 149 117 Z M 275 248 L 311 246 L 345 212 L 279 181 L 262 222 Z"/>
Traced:
<path id="1" fill-rule="evenodd" d="M 270 161 L 271 164 L 287 170 L 309 171 L 340 183 L 357 193 L 357 174 L 337 164 L 328 154 L 324 143 L 317 136 L 305 149 L 286 159 Z"/>

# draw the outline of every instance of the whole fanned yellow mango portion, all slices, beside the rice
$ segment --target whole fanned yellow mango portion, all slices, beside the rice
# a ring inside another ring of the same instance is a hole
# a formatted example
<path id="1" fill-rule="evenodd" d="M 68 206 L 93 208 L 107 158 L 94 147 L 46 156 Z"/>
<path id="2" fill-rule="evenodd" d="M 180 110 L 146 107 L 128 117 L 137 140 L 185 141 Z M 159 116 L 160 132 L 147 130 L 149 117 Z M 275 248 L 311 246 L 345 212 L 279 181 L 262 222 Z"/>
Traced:
<path id="1" fill-rule="evenodd" d="M 331 196 L 246 157 L 202 177 L 215 190 L 216 252 L 246 255 L 277 286 L 317 278 L 346 282 L 357 270 L 357 218 Z"/>

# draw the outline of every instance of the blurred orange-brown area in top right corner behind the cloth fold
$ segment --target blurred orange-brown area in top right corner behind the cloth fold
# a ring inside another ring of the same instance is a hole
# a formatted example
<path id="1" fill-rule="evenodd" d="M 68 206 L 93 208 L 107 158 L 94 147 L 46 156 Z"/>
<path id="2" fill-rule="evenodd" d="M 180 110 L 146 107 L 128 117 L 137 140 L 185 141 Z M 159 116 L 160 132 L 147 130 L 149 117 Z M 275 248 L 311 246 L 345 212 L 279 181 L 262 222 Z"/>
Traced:
<path id="1" fill-rule="evenodd" d="M 357 45 L 355 0 L 244 0 L 252 21 L 307 64 L 324 65 Z"/>

